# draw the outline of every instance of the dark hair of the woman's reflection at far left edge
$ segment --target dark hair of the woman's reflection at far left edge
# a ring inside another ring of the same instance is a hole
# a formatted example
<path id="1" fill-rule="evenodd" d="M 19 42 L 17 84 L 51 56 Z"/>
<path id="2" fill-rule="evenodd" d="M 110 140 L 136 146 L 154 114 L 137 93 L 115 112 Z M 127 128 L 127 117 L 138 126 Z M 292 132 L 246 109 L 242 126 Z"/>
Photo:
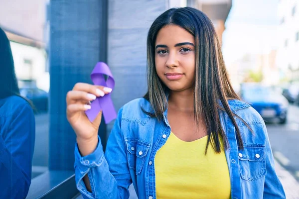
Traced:
<path id="1" fill-rule="evenodd" d="M 0 28 L 0 99 L 20 95 L 9 40 Z"/>

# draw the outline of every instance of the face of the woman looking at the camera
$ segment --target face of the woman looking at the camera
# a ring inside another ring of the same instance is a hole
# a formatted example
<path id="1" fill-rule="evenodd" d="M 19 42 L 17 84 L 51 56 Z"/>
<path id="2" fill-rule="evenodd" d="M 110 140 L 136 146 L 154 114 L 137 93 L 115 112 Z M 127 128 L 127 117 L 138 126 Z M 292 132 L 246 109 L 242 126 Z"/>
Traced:
<path id="1" fill-rule="evenodd" d="M 194 87 L 195 41 L 177 25 L 161 28 L 155 41 L 155 68 L 158 77 L 171 91 Z"/>

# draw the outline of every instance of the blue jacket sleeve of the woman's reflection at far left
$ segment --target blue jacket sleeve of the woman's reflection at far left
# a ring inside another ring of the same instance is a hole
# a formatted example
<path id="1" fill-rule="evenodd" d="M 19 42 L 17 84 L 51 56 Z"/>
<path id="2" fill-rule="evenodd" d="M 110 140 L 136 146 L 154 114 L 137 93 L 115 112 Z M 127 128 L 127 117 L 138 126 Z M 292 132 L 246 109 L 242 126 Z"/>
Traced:
<path id="1" fill-rule="evenodd" d="M 5 136 L 0 135 L 0 198 L 24 199 L 31 183 L 34 114 L 26 102 L 5 119 L 10 124 Z"/>

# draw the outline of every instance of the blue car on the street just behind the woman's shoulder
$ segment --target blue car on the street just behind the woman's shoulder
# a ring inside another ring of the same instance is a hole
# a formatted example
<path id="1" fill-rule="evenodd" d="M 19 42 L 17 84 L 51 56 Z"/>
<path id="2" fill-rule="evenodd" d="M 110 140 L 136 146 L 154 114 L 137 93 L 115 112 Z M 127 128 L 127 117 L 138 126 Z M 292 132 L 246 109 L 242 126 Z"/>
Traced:
<path id="1" fill-rule="evenodd" d="M 267 122 L 287 122 L 288 100 L 276 88 L 260 84 L 243 84 L 241 98 L 255 108 Z"/>

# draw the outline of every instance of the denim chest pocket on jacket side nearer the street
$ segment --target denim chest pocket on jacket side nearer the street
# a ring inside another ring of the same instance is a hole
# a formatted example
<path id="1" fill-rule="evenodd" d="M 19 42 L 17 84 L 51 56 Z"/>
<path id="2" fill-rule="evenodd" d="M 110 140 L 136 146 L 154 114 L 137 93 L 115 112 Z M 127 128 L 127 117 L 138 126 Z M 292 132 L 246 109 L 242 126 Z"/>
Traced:
<path id="1" fill-rule="evenodd" d="M 238 157 L 242 179 L 253 181 L 267 174 L 265 146 L 244 144 L 244 150 L 239 151 Z"/>

